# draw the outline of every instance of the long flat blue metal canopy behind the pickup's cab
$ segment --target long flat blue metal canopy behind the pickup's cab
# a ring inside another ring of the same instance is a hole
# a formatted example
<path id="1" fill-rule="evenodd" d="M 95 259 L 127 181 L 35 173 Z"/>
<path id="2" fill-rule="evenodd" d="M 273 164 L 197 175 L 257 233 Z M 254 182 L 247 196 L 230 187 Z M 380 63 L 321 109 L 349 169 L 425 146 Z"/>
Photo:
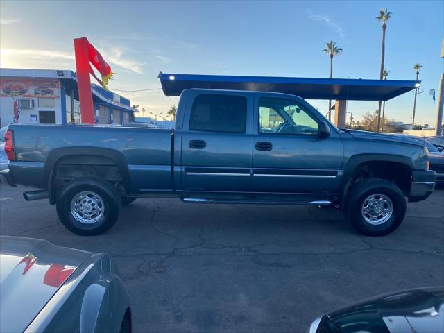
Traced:
<path id="1" fill-rule="evenodd" d="M 420 86 L 421 81 L 364 80 L 355 78 L 287 78 L 271 76 L 225 76 L 159 73 L 167 96 L 180 96 L 183 90 L 228 89 L 282 92 L 303 99 L 388 101 Z"/>

